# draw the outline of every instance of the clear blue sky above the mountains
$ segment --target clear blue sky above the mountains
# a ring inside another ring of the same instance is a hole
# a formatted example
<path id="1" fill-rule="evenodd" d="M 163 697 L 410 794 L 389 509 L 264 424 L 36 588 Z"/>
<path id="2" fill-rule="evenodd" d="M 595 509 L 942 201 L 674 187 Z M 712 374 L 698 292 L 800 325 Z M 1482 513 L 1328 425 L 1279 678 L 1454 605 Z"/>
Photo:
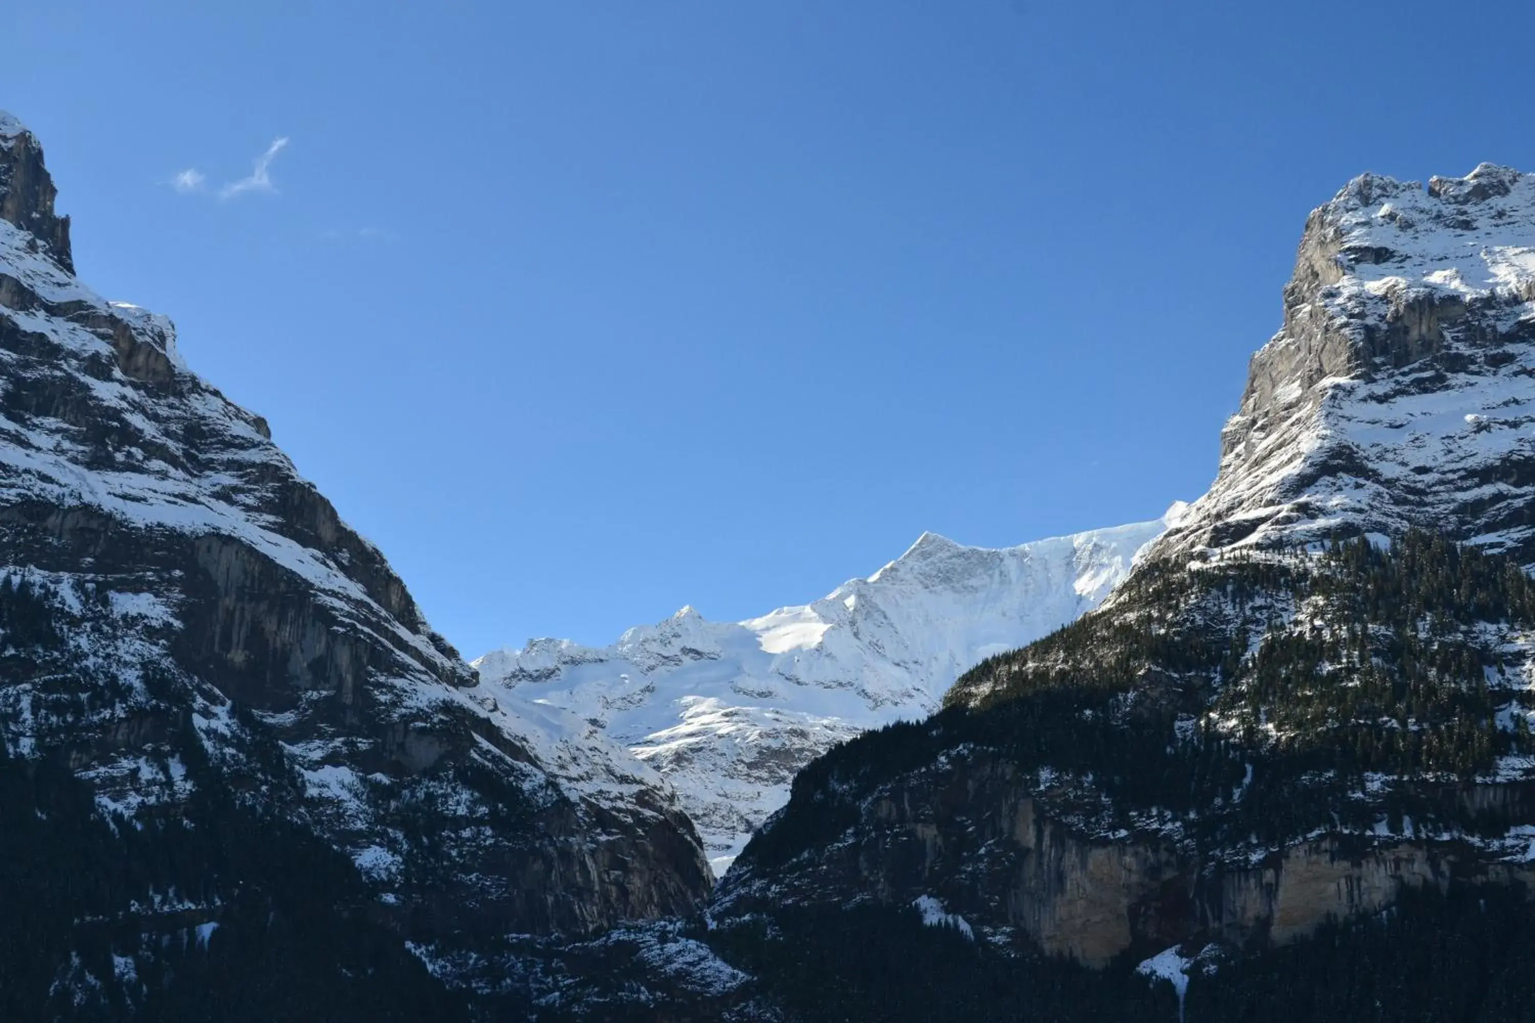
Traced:
<path id="1" fill-rule="evenodd" d="M 15 3 L 0 107 L 474 656 L 1196 497 L 1312 206 L 1535 169 L 1478 11 Z"/>

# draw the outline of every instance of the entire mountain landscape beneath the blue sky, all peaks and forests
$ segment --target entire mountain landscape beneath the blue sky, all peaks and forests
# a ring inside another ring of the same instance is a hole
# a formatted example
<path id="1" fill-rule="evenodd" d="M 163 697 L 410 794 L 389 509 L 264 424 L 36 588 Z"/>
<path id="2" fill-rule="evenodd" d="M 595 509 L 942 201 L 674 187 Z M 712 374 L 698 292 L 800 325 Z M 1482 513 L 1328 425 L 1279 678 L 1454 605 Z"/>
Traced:
<path id="1" fill-rule="evenodd" d="M 1535 1020 L 1535 175 L 1312 212 L 1159 521 L 474 667 L 54 199 L 0 115 L 0 1018 Z"/>

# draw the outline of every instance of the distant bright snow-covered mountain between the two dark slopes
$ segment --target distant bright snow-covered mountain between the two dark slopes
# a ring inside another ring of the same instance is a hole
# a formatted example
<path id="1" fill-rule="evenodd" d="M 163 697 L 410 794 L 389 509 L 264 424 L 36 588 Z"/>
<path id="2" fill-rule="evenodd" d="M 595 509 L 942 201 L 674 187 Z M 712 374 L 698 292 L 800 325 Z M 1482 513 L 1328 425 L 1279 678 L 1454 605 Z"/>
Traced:
<path id="1" fill-rule="evenodd" d="M 740 623 L 692 607 L 612 646 L 533 640 L 474 666 L 488 692 L 562 707 L 666 776 L 717 871 L 827 747 L 923 718 L 976 661 L 1098 606 L 1183 512 L 1018 548 L 923 534 L 869 578 Z"/>

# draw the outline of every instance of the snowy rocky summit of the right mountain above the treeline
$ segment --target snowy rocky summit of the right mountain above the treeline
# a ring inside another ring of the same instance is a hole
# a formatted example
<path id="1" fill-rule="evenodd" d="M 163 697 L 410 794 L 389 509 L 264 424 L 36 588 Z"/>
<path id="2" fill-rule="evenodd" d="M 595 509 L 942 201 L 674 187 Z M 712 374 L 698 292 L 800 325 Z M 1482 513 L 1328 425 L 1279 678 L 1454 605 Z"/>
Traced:
<path id="1" fill-rule="evenodd" d="M 1362 175 L 1306 221 L 1220 472 L 1164 551 L 1444 531 L 1535 563 L 1535 175 Z"/>

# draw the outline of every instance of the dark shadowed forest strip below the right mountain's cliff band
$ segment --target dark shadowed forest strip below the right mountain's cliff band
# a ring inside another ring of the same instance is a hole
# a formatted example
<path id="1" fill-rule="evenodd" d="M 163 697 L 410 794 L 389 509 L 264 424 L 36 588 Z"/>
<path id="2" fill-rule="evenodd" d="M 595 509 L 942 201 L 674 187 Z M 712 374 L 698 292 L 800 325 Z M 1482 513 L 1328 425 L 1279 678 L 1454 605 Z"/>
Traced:
<path id="1" fill-rule="evenodd" d="M 989 949 L 915 911 L 774 914 L 714 940 L 784 1006 L 786 1023 L 1145 1023 L 1180 1018 L 1167 982 L 1127 957 L 1104 969 Z M 1408 891 L 1392 910 L 1326 925 L 1262 956 L 1190 971 L 1187 1023 L 1523 1023 L 1535 1020 L 1535 910 L 1526 893 Z M 1454 983 L 1446 979 L 1454 977 Z M 635 1017 L 643 1018 L 643 1017 Z"/>

